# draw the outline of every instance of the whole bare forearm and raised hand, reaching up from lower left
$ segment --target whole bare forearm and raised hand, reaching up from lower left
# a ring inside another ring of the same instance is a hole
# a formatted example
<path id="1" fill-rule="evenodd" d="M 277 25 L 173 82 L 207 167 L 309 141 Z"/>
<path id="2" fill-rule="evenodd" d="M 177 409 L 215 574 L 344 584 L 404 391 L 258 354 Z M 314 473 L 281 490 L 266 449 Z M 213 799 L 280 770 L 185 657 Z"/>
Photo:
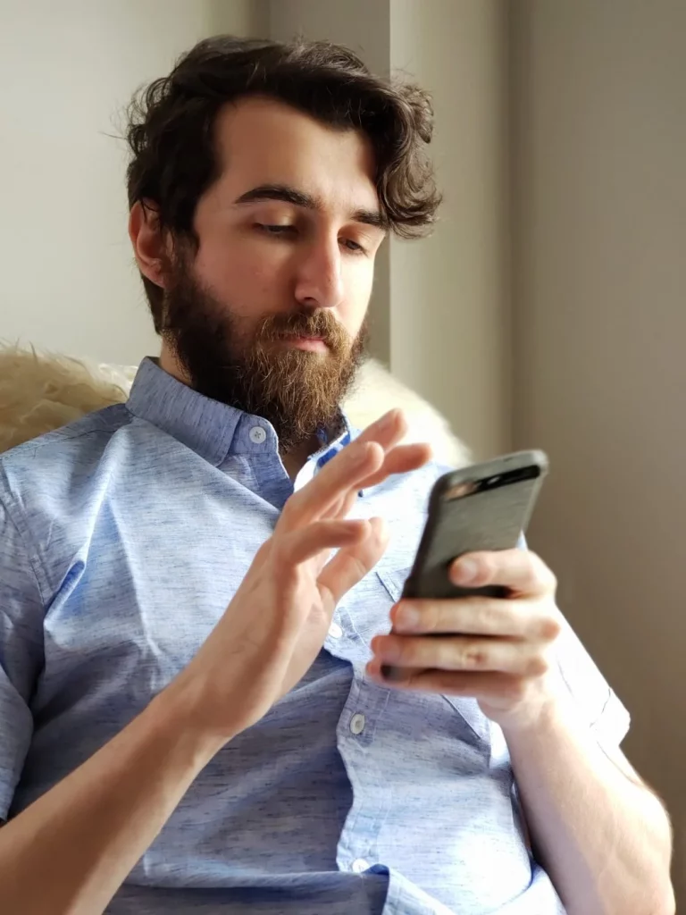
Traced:
<path id="1" fill-rule="evenodd" d="M 428 456 L 426 446 L 399 446 L 403 432 L 402 416 L 388 415 L 297 492 L 188 666 L 0 829 L 3 911 L 106 910 L 198 772 L 297 683 L 338 600 L 383 553 L 380 521 L 346 518 L 358 490 Z"/>

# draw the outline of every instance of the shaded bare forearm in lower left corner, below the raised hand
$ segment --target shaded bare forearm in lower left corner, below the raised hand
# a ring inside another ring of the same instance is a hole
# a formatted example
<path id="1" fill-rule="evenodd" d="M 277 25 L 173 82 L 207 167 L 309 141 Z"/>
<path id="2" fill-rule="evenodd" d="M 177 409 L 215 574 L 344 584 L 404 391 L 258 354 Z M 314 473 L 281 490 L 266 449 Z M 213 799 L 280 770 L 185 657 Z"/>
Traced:
<path id="1" fill-rule="evenodd" d="M 219 750 L 165 694 L 0 829 L 0 910 L 96 915 Z"/>

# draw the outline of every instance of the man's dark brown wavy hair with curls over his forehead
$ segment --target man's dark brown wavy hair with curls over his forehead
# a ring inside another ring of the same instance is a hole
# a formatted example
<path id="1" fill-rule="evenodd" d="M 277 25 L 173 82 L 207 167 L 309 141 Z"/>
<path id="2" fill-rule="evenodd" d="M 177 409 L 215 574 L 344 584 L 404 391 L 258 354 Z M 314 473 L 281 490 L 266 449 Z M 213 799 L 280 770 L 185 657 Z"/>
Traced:
<path id="1" fill-rule="evenodd" d="M 153 201 L 160 228 L 197 250 L 198 199 L 219 178 L 215 119 L 227 102 L 248 95 L 369 136 L 384 221 L 402 238 L 428 233 L 440 203 L 425 150 L 434 127 L 429 94 L 372 76 L 351 50 L 327 41 L 206 38 L 168 76 L 136 92 L 126 127 L 129 208 Z M 145 276 L 143 282 L 159 332 L 163 292 Z"/>

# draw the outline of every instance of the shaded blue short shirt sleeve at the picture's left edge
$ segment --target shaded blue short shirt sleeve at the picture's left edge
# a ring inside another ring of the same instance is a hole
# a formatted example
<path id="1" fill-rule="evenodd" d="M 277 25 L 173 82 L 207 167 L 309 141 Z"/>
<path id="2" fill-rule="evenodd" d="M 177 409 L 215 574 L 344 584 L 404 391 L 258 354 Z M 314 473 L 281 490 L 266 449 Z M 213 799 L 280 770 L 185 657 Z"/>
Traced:
<path id="1" fill-rule="evenodd" d="M 27 544 L 0 500 L 0 819 L 33 736 L 31 695 L 43 666 L 43 603 Z"/>

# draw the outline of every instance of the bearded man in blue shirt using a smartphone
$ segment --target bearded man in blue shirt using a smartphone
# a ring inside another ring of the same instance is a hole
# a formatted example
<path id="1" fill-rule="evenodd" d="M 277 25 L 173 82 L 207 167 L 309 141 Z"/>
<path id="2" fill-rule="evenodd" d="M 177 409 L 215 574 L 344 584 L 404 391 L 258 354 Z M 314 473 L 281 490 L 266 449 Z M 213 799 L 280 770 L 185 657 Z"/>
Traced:
<path id="1" fill-rule="evenodd" d="M 442 469 L 338 404 L 431 129 L 326 44 L 211 39 L 134 105 L 160 358 L 0 462 L 3 911 L 673 911 L 551 572 L 475 554 L 508 599 L 397 603 Z"/>

